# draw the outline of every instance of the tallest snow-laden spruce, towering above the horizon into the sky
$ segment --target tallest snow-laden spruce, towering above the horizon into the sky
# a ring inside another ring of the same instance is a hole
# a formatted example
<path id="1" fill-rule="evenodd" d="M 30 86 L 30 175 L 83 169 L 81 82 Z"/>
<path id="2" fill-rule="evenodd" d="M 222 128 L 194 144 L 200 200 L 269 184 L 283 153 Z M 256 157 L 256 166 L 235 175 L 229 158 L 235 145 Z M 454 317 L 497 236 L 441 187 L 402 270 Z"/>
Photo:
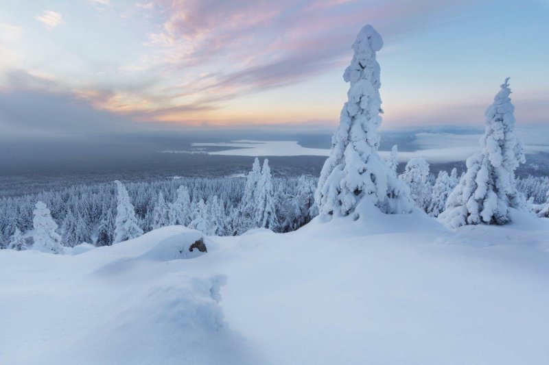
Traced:
<path id="1" fill-rule="evenodd" d="M 343 105 L 315 194 L 320 214 L 346 216 L 354 212 L 358 218 L 358 205 L 365 209 L 375 206 L 390 214 L 412 210 L 408 187 L 377 153 L 376 129 L 383 111 L 375 52 L 382 46 L 381 36 L 371 25 L 364 26 L 353 43 L 353 60 L 343 75 L 351 83 L 349 101 Z"/>

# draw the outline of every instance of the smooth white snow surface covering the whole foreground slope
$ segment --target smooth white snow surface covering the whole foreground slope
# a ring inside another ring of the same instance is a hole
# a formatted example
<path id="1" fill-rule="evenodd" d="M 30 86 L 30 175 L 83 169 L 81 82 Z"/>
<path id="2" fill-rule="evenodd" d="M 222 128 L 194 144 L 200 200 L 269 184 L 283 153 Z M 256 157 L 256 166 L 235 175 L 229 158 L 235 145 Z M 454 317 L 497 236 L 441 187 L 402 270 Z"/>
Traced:
<path id="1" fill-rule="evenodd" d="M 78 255 L 3 250 L 0 359 L 549 364 L 549 219 L 512 218 L 448 231 L 374 210 L 210 238 L 196 257 L 178 255 L 199 236 L 184 227 Z"/>

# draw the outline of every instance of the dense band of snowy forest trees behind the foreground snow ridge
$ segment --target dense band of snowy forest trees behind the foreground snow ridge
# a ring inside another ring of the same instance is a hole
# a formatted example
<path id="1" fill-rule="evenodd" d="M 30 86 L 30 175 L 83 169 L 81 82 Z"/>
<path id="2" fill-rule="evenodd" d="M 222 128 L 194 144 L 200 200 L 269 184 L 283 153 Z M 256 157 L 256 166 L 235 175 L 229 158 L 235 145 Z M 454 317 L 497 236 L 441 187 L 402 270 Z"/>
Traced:
<path id="1" fill-rule="evenodd" d="M 396 161 L 397 147 L 390 159 Z M 388 164 L 391 165 L 390 160 Z M 395 176 L 396 164 L 393 162 Z M 414 158 L 398 179 L 430 216 L 439 216 L 459 181 L 456 168 L 435 177 L 429 164 Z M 268 163 L 255 160 L 246 179 L 180 178 L 154 182 L 73 186 L 0 199 L 2 248 L 60 251 L 82 242 L 110 245 L 167 225 L 185 225 L 208 235 L 233 236 L 254 227 L 293 231 L 318 214 L 312 176 L 271 177 Z M 549 216 L 549 177 L 518 178 L 516 188 L 528 209 Z"/>

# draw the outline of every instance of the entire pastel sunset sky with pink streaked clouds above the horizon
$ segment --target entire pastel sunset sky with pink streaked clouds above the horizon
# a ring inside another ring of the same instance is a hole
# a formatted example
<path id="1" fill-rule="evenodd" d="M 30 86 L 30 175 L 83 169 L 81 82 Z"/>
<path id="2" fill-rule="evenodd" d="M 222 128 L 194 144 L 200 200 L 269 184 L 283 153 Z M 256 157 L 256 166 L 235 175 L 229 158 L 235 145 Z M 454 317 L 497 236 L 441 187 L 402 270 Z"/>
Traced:
<path id="1" fill-rule="evenodd" d="M 383 128 L 482 125 L 506 77 L 517 123 L 548 125 L 548 18 L 547 0 L 2 0 L 0 131 L 333 128 L 365 24 Z"/>

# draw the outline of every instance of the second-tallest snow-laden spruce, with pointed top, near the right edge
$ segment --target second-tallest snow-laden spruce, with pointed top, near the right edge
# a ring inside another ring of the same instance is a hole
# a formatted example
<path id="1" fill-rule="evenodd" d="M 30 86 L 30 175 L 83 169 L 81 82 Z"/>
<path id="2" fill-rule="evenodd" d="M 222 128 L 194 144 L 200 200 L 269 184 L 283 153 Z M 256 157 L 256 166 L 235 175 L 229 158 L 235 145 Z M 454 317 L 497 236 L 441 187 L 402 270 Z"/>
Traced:
<path id="1" fill-rule="evenodd" d="M 515 169 L 526 162 L 523 145 L 515 136 L 515 107 L 505 79 L 486 111 L 480 138 L 482 152 L 467 159 L 467 173 L 448 197 L 442 221 L 449 227 L 479 223 L 509 223 L 509 208 L 526 210 L 526 198 L 515 187 Z"/>

